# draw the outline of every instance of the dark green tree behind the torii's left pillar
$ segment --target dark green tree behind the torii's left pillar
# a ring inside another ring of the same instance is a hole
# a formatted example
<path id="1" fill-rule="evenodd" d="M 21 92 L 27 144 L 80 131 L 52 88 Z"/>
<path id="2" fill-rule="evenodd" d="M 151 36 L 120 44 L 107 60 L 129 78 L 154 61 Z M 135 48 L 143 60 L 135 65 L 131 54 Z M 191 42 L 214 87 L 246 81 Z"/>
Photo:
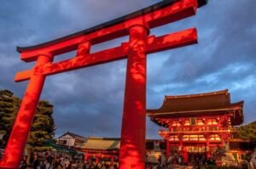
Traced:
<path id="1" fill-rule="evenodd" d="M 0 132 L 4 133 L 2 147 L 5 147 L 15 117 L 20 108 L 21 99 L 14 96 L 9 90 L 0 90 Z M 35 117 L 32 122 L 31 132 L 27 144 L 33 149 L 43 150 L 44 142 L 53 138 L 55 133 L 55 122 L 52 118 L 54 106 L 48 101 L 39 101 Z"/>

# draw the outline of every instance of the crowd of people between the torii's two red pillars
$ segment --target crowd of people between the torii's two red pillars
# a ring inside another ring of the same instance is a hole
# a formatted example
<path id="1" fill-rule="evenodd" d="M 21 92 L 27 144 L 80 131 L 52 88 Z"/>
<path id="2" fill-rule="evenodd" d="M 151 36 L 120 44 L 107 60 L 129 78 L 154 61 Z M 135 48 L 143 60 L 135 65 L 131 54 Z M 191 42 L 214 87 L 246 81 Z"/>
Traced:
<path id="1" fill-rule="evenodd" d="M 30 160 L 23 157 L 20 169 L 117 169 L 108 161 L 84 161 L 83 155 L 63 155 L 57 153 L 34 153 Z"/>

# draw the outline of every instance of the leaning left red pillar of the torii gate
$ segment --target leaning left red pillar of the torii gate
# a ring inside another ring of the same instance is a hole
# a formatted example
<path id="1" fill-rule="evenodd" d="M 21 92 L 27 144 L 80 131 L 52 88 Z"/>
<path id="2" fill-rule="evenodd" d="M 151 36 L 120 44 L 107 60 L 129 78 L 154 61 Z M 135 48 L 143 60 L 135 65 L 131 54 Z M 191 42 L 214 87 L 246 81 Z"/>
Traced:
<path id="1" fill-rule="evenodd" d="M 36 66 L 44 65 L 51 61 L 51 54 L 40 54 L 38 55 Z M 37 109 L 38 100 L 44 86 L 44 80 L 44 75 L 37 75 L 35 72 L 31 76 L 30 82 L 26 87 L 26 93 L 20 104 L 20 110 L 16 116 L 8 144 L 4 150 L 0 168 L 19 168 L 33 117 Z"/>

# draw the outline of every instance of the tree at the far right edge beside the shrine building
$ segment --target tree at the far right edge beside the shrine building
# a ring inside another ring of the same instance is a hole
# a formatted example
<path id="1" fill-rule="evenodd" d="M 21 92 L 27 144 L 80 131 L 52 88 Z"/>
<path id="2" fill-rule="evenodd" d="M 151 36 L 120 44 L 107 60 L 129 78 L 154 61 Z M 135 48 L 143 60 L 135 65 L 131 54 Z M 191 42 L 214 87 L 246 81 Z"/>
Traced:
<path id="1" fill-rule="evenodd" d="M 241 139 L 256 141 L 256 121 L 238 127 L 238 135 Z"/>

